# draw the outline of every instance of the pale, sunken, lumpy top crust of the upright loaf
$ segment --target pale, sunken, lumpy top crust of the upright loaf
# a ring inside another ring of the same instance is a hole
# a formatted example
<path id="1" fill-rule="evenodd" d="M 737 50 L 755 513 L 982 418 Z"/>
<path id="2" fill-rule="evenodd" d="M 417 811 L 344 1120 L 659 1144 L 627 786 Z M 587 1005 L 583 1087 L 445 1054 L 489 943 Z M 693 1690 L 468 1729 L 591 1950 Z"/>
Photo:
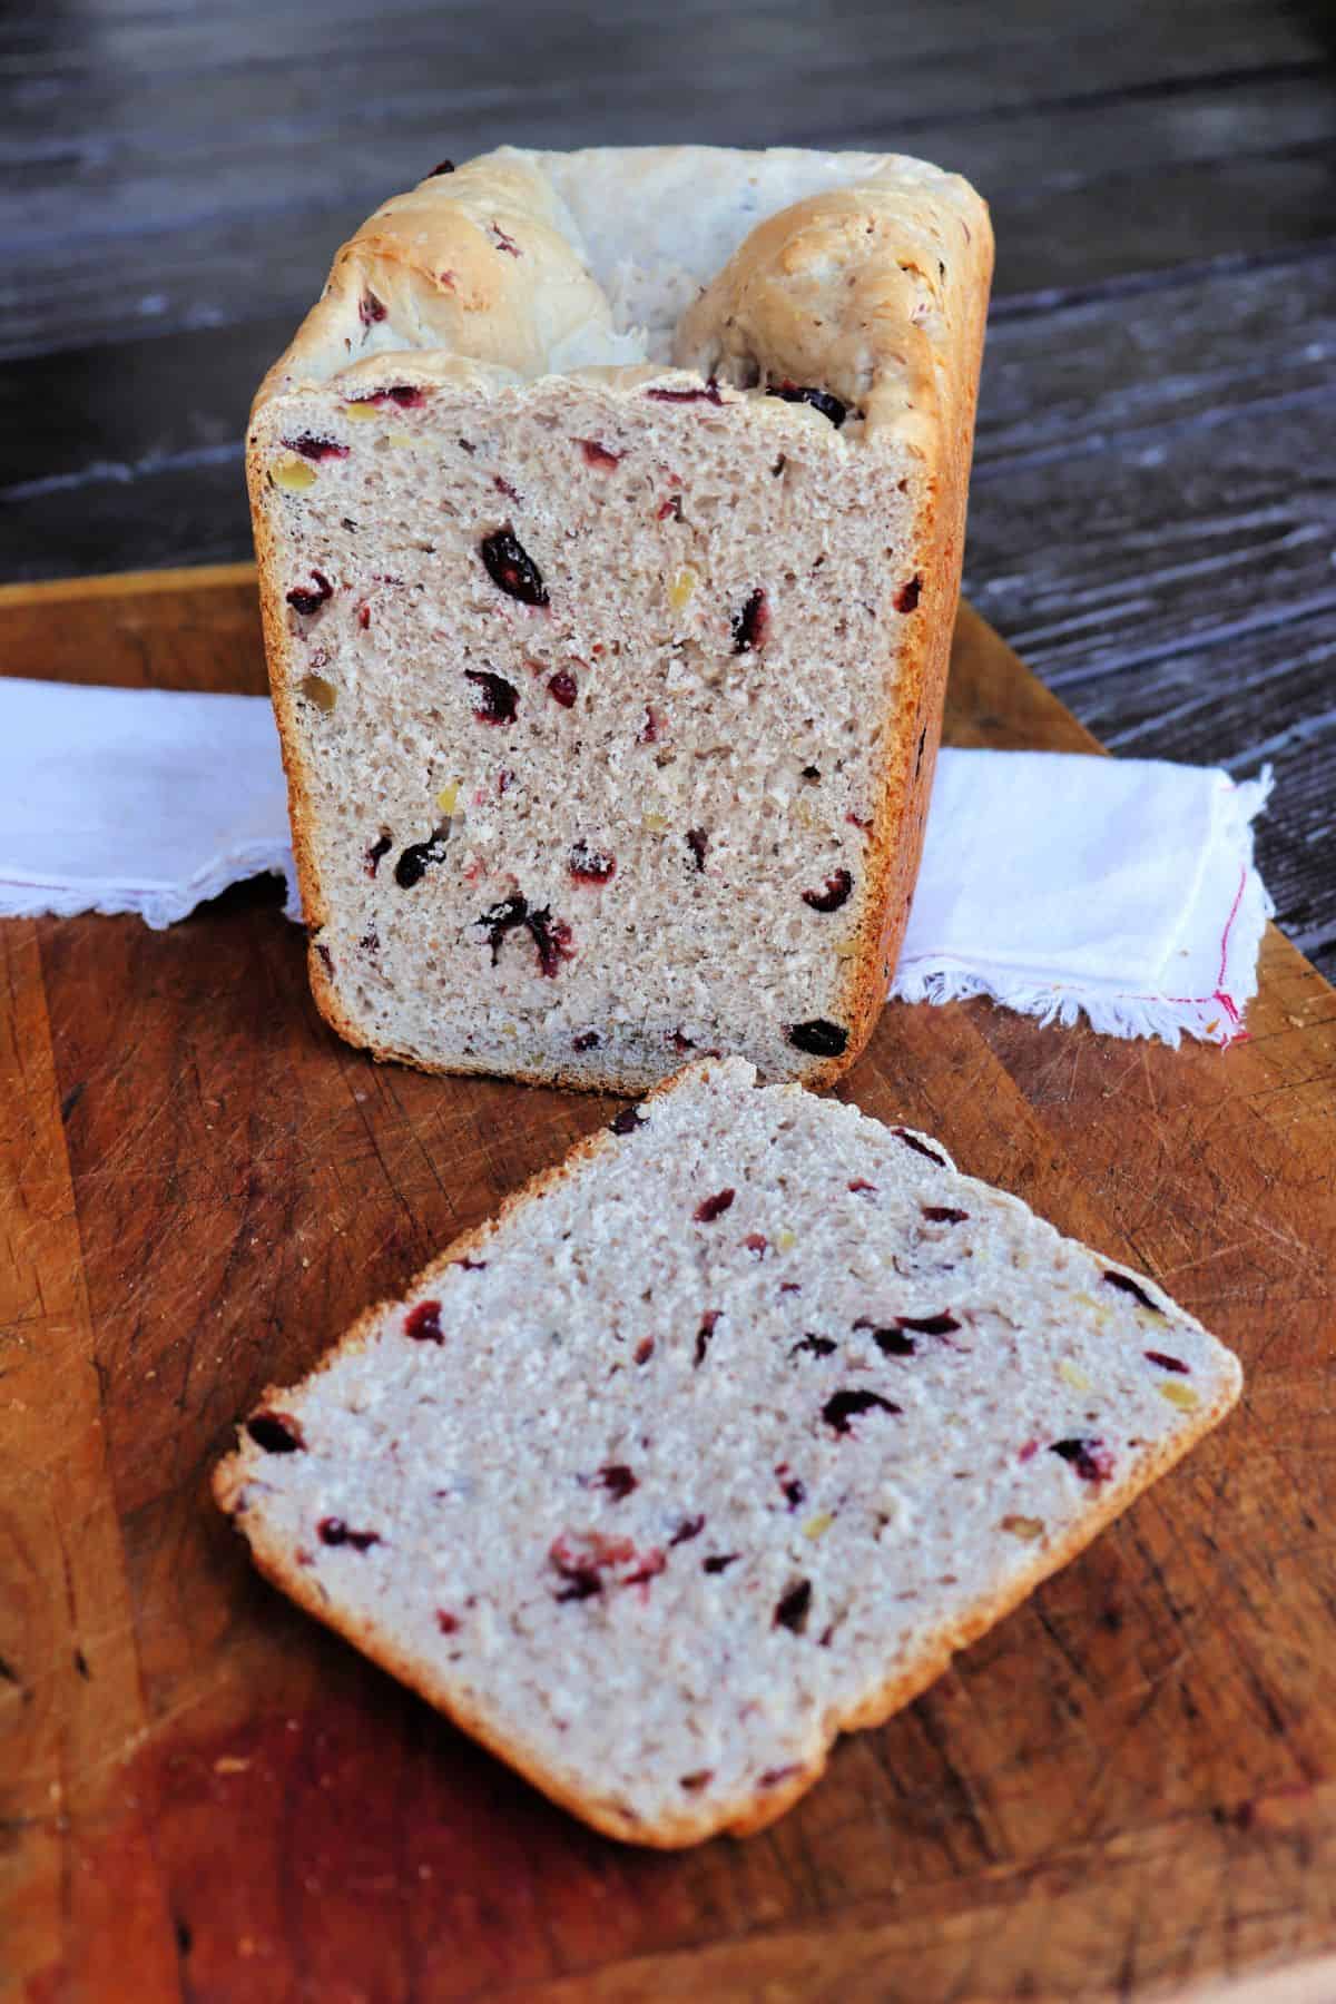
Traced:
<path id="1" fill-rule="evenodd" d="M 256 405 L 389 355 L 627 389 L 649 363 L 913 433 L 989 271 L 981 198 L 899 154 L 503 146 L 369 216 Z"/>

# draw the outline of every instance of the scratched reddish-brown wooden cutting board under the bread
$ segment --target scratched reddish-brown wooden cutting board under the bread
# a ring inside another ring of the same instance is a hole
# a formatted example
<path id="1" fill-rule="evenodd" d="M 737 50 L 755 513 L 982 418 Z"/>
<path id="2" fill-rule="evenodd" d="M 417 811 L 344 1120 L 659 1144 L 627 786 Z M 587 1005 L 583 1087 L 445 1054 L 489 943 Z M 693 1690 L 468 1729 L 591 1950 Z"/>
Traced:
<path id="1" fill-rule="evenodd" d="M 260 689 L 244 569 L 0 591 L 4 671 Z M 1090 749 L 969 611 L 949 739 Z M 1042 812 L 1042 804 L 1036 804 Z M 773 1830 L 625 1850 L 264 1587 L 268 1379 L 609 1102 L 377 1068 L 242 886 L 0 924 L 0 1966 L 52 2000 L 1336 1998 L 1336 994 L 1228 1052 L 889 1006 L 839 1086 L 1164 1281 L 1238 1413 Z M 1314 1958 L 1330 1958 L 1320 1968 Z M 1288 1974 L 1286 1974 L 1288 1972 Z"/>

